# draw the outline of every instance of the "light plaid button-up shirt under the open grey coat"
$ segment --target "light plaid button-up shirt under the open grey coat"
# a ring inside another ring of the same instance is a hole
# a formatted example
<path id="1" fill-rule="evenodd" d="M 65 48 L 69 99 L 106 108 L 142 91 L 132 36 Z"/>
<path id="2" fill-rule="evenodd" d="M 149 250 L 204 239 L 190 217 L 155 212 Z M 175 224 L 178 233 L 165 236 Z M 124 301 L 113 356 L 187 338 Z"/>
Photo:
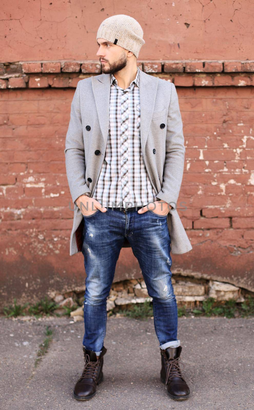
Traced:
<path id="1" fill-rule="evenodd" d="M 123 90 L 111 74 L 108 142 L 92 196 L 105 207 L 145 206 L 156 200 L 140 144 L 139 80 L 137 68 L 135 80 Z"/>

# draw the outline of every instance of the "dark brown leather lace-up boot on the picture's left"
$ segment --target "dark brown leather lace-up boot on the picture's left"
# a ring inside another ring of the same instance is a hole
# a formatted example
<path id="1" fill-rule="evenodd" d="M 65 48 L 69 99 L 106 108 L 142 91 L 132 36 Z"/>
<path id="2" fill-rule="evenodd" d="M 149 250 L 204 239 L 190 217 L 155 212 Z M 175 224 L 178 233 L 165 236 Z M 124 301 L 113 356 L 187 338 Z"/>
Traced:
<path id="1" fill-rule="evenodd" d="M 82 376 L 74 387 L 74 397 L 77 400 L 89 400 L 96 393 L 96 385 L 103 381 L 103 356 L 107 349 L 103 346 L 97 359 L 96 353 L 83 346 L 85 367 Z"/>

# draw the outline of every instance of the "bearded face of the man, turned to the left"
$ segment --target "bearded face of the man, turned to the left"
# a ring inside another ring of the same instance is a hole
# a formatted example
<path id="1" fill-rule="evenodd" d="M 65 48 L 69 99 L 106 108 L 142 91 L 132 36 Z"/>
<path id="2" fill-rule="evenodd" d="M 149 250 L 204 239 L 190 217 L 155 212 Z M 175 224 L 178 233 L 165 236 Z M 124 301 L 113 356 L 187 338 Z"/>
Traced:
<path id="1" fill-rule="evenodd" d="M 97 46 L 96 55 L 100 58 L 102 73 L 114 74 L 126 66 L 128 50 L 105 39 L 98 39 Z"/>

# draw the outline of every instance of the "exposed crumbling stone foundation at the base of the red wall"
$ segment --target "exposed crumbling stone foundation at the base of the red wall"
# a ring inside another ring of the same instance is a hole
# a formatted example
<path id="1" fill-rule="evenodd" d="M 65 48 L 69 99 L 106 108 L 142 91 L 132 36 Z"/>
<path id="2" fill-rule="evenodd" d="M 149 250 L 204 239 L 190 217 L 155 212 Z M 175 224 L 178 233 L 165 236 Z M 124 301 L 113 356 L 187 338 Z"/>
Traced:
<path id="1" fill-rule="evenodd" d="M 178 307 L 194 308 L 200 305 L 200 302 L 209 297 L 215 298 L 215 301 L 235 300 L 237 303 L 245 301 L 245 296 L 254 296 L 253 292 L 246 289 L 231 285 L 226 282 L 217 280 L 208 280 L 202 278 L 193 278 L 188 276 L 172 276 L 172 285 Z M 72 307 L 75 303 L 81 305 L 77 310 L 71 312 L 73 321 L 83 320 L 85 286 L 76 287 L 65 291 L 63 294 L 58 292 L 49 292 L 48 296 L 56 303 L 59 303 L 60 309 L 63 306 Z M 146 284 L 143 278 L 128 279 L 121 282 L 114 282 L 107 299 L 107 311 L 124 310 L 133 303 L 144 303 L 152 301 L 149 296 Z M 59 309 L 57 309 L 59 312 Z"/>

